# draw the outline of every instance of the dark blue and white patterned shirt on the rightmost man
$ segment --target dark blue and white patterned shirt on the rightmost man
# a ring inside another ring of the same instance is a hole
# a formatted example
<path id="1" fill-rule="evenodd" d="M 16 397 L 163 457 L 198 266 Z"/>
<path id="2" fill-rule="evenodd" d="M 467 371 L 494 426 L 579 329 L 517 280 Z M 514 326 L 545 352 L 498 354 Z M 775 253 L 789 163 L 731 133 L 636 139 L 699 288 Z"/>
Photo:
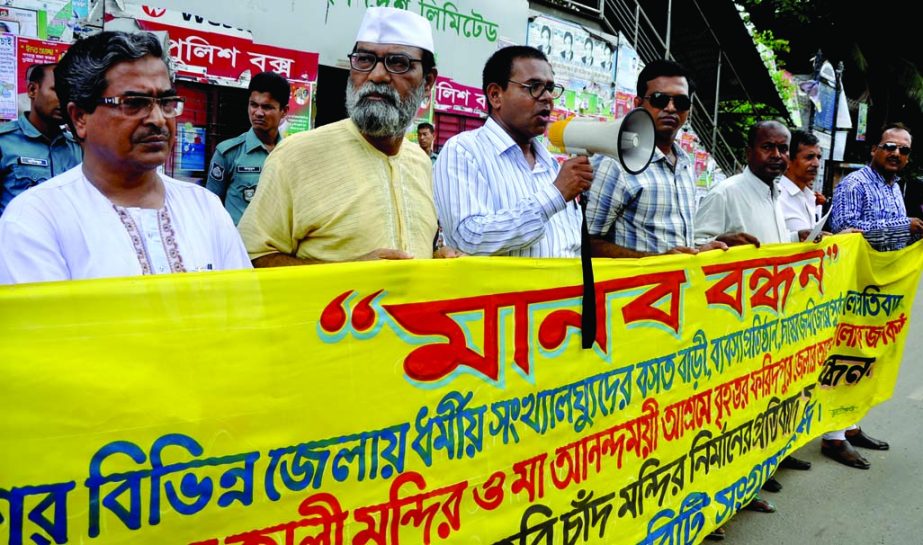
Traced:
<path id="1" fill-rule="evenodd" d="M 910 232 L 910 218 L 897 185 L 870 165 L 852 172 L 833 190 L 830 227 L 834 233 L 847 227 L 861 229 L 878 251 L 900 250 L 919 238 Z"/>

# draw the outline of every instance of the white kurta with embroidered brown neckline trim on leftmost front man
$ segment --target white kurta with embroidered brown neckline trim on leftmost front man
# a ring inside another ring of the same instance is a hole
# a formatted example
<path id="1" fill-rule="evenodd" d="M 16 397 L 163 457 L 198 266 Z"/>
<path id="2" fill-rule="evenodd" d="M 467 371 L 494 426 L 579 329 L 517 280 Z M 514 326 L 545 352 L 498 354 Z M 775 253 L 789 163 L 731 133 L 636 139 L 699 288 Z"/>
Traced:
<path id="1" fill-rule="evenodd" d="M 251 267 L 218 197 L 160 178 L 164 207 L 143 219 L 114 206 L 82 165 L 25 191 L 0 218 L 0 284 L 152 274 L 164 259 L 166 272 Z"/>

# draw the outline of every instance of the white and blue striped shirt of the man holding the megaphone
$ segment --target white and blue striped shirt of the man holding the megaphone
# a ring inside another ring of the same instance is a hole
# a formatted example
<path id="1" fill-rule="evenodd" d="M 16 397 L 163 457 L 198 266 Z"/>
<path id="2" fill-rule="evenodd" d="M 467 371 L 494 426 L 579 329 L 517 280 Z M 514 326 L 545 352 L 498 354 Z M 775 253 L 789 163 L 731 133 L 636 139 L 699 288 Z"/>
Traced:
<path id="1" fill-rule="evenodd" d="M 578 257 L 581 214 L 554 186 L 559 166 L 534 143 L 535 166 L 493 119 L 451 138 L 433 168 L 447 246 L 471 255 Z"/>

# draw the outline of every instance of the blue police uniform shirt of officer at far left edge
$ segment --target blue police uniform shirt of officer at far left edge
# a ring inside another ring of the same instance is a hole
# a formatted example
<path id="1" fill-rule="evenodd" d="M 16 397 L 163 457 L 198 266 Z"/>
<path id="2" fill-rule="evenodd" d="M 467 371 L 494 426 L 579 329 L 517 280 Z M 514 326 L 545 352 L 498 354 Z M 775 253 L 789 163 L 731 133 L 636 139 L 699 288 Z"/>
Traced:
<path id="1" fill-rule="evenodd" d="M 83 152 L 70 135 L 61 133 L 51 142 L 26 114 L 0 125 L 0 214 L 26 189 L 80 164 Z"/>

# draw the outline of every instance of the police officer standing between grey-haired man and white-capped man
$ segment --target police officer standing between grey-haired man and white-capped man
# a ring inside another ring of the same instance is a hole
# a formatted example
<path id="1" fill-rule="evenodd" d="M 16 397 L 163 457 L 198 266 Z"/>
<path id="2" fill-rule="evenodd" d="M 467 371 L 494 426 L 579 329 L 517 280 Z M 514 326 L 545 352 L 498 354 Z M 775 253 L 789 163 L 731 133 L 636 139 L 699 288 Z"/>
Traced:
<path id="1" fill-rule="evenodd" d="M 256 193 L 263 162 L 282 140 L 279 124 L 288 112 L 291 87 L 275 72 L 260 72 L 250 80 L 250 130 L 218 144 L 205 187 L 221 197 L 234 225 Z"/>

